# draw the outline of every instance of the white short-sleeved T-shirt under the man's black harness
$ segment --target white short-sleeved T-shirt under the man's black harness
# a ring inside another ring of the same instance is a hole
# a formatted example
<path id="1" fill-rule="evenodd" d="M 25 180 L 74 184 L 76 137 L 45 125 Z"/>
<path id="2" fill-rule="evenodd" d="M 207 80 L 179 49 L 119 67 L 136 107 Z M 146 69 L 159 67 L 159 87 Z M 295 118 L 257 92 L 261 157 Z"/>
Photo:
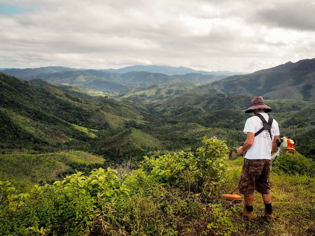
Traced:
<path id="1" fill-rule="evenodd" d="M 260 112 L 266 121 L 268 121 L 268 114 Z M 244 133 L 247 132 L 256 133 L 262 128 L 262 121 L 261 119 L 254 115 L 247 119 L 244 127 Z M 264 130 L 260 134 L 258 134 L 254 138 L 254 143 L 248 149 L 245 158 L 247 159 L 269 159 L 271 160 L 271 149 L 272 149 L 272 141 L 275 135 L 279 135 L 279 126 L 278 122 L 273 119 L 272 126 L 271 126 L 271 136 L 272 140 L 270 139 L 270 134 L 268 130 Z"/>

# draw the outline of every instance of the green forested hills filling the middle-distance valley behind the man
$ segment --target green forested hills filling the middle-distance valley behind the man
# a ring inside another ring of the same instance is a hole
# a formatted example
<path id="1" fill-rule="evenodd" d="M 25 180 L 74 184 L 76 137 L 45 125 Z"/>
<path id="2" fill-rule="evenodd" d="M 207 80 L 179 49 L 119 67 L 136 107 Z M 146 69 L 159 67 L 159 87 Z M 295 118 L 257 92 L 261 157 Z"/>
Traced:
<path id="1" fill-rule="evenodd" d="M 0 149 L 11 146 L 39 149 L 40 146 L 40 149 L 54 150 L 85 142 L 86 147 L 81 147 L 84 151 L 98 147 L 98 154 L 118 152 L 115 155 L 122 156 L 123 147 L 129 149 L 129 143 L 134 143 L 137 136 L 138 143 L 133 146 L 149 150 L 161 142 L 160 146 L 174 148 L 195 143 L 207 132 L 216 135 L 212 133 L 214 128 L 229 142 L 243 141 L 237 130 L 241 130 L 248 118 L 242 111 L 248 108 L 250 97 L 187 93 L 194 84 L 185 85 L 187 91 L 180 90 L 185 88 L 181 84 L 147 86 L 147 94 L 139 98 L 148 95 L 152 100 L 139 104 L 127 101 L 127 94 L 120 99 L 93 96 L 82 88 L 38 79 L 30 83 L 0 72 Z M 133 88 L 132 92 L 137 93 L 137 89 Z M 149 94 L 151 91 L 154 92 Z M 272 104 L 273 115 L 282 128 L 294 127 L 288 133 L 299 131 L 309 136 L 307 132 L 315 124 L 313 101 L 266 101 Z M 182 133 L 183 130 L 187 132 Z M 192 130 L 198 132 L 192 134 Z M 174 132 L 178 135 L 172 139 Z M 146 136 L 147 142 L 141 140 L 140 137 Z M 155 141 L 152 143 L 152 140 Z"/>

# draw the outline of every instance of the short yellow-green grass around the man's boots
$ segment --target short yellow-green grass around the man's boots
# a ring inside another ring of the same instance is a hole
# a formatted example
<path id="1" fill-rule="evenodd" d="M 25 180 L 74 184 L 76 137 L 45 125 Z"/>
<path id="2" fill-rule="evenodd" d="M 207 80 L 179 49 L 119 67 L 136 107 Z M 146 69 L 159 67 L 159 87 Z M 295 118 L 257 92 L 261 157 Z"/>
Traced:
<path id="1" fill-rule="evenodd" d="M 295 160 L 292 161 L 292 157 Z M 238 182 L 242 158 L 229 161 L 229 170 L 225 178 L 228 180 L 229 188 L 225 189 L 228 193 Z M 304 162 L 305 157 L 298 153 L 280 155 L 272 166 L 270 175 L 270 184 L 272 191 L 272 206 L 276 221 L 273 224 L 263 221 L 260 216 L 263 214 L 264 204 L 261 194 L 254 194 L 254 214 L 252 222 L 245 221 L 239 214 L 232 214 L 230 218 L 234 227 L 239 225 L 237 232 L 233 235 L 313 235 L 315 233 L 314 224 L 314 186 L 315 179 L 312 171 L 306 175 L 298 172 L 290 172 L 286 169 L 300 168 L 306 170 Z M 303 163 L 304 162 L 304 163 Z M 311 161 L 314 168 L 314 161 Z M 283 165 L 285 164 L 285 165 Z M 302 197 L 303 196 L 303 197 Z M 241 204 L 243 207 L 244 203 Z M 236 212 L 243 209 L 236 207 Z"/>

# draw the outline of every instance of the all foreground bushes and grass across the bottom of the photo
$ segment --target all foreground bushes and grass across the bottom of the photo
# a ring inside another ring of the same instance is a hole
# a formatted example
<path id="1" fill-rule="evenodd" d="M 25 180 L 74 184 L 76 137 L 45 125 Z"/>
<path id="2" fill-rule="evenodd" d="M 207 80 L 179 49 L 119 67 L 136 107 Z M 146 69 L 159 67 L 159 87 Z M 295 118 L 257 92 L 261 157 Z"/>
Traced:
<path id="1" fill-rule="evenodd" d="M 120 179 L 110 168 L 94 169 L 88 175 L 77 171 L 53 184 L 35 185 L 30 193 L 20 193 L 9 181 L 2 181 L 0 235 L 308 236 L 315 233 L 312 177 L 272 169 L 272 204 L 277 217 L 273 224 L 259 217 L 264 211 L 259 194 L 255 193 L 256 217 L 252 221 L 241 217 L 243 205 L 217 198 L 235 188 L 241 167 L 241 157 L 221 162 L 226 152 L 224 142 L 211 138 L 205 139 L 195 154 L 177 152 L 146 158 L 143 169 L 129 169 L 131 172 Z M 298 153 L 290 155 L 300 158 Z M 278 158 L 281 160 L 281 156 Z M 229 167 L 226 170 L 225 165 Z M 224 171 L 220 179 L 226 181 L 220 182 L 220 188 L 215 184 L 210 195 L 189 194 L 184 185 L 188 183 L 185 174 L 191 177 L 195 173 L 196 178 L 208 180 L 219 176 L 219 170 L 208 171 L 207 166 Z M 155 167 L 161 175 L 153 171 Z M 192 170 L 188 172 L 190 167 Z"/>

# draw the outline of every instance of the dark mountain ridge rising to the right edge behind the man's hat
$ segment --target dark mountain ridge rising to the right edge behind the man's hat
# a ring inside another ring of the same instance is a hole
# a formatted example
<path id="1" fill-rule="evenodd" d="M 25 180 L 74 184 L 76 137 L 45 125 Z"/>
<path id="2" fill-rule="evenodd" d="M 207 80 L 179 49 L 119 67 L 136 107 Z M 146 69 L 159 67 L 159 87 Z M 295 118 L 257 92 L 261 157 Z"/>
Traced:
<path id="1" fill-rule="evenodd" d="M 266 99 L 315 100 L 315 58 L 287 62 L 247 75 L 229 76 L 192 92 L 243 94 Z"/>

